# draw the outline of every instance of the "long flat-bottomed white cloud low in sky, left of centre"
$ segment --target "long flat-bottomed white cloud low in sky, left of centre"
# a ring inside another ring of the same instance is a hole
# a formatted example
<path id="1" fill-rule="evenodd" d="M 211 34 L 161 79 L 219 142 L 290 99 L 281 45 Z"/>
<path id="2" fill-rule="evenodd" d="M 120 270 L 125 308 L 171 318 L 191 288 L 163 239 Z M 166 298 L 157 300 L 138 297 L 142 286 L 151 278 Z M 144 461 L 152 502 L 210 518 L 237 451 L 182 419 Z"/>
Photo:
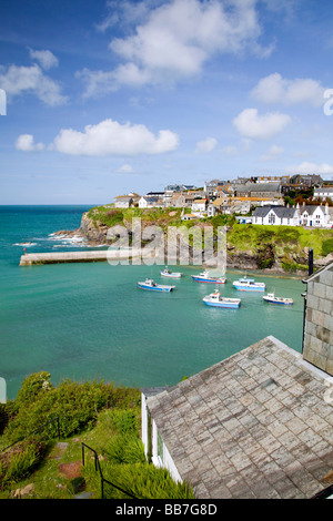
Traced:
<path id="1" fill-rule="evenodd" d="M 53 141 L 53 149 L 71 155 L 137 155 L 162 154 L 179 145 L 179 136 L 161 130 L 155 136 L 144 125 L 120 124 L 104 120 L 87 125 L 84 132 L 61 130 Z"/>

